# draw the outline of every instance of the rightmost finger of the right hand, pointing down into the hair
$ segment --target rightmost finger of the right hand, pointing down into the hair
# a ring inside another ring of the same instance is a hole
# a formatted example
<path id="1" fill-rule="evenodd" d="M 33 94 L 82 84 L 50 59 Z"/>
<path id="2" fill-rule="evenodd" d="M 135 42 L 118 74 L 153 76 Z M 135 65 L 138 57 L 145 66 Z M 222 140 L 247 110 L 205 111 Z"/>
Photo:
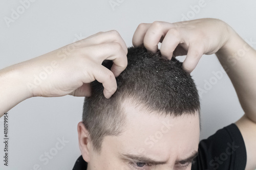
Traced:
<path id="1" fill-rule="evenodd" d="M 193 46 L 189 46 L 187 57 L 182 64 L 183 69 L 190 74 L 190 72 L 192 72 L 196 68 L 203 54 L 204 53 L 200 45 L 194 44 Z"/>

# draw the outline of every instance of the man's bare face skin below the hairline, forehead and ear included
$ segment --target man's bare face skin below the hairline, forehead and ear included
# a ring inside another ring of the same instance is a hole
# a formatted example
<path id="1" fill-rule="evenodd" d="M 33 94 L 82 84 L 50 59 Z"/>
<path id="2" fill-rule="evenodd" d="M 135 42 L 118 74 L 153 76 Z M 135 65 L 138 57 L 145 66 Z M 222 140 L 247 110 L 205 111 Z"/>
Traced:
<path id="1" fill-rule="evenodd" d="M 82 122 L 78 124 L 79 147 L 83 159 L 88 162 L 87 170 L 191 169 L 189 161 L 180 161 L 198 151 L 198 113 L 180 117 L 163 116 L 157 112 L 149 114 L 127 102 L 123 108 L 126 116 L 123 133 L 105 136 L 100 153 L 94 151 L 89 132 Z"/>

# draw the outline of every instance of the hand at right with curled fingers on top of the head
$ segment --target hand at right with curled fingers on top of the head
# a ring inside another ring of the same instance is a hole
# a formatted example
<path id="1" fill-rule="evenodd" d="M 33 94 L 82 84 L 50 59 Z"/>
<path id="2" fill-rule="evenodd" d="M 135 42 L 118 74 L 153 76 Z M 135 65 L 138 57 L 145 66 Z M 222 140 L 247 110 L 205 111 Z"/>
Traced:
<path id="1" fill-rule="evenodd" d="M 203 54 L 214 54 L 222 48 L 232 29 L 219 19 L 197 19 L 168 23 L 156 21 L 153 23 L 141 23 L 133 36 L 133 45 L 144 45 L 150 52 L 158 51 L 158 43 L 161 42 L 160 52 L 163 57 L 187 55 L 183 62 L 183 68 L 187 72 L 195 69 Z"/>

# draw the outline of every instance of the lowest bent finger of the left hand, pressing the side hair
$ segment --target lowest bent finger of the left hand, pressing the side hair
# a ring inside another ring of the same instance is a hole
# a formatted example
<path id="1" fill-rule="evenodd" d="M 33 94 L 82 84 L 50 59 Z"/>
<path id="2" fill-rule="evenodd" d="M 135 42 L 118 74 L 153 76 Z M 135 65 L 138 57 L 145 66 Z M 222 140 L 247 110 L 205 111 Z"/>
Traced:
<path id="1" fill-rule="evenodd" d="M 98 82 L 102 83 L 104 87 L 103 94 L 106 99 L 109 99 L 117 89 L 115 76 L 111 70 L 102 65 L 99 65 L 95 70 L 93 76 Z"/>

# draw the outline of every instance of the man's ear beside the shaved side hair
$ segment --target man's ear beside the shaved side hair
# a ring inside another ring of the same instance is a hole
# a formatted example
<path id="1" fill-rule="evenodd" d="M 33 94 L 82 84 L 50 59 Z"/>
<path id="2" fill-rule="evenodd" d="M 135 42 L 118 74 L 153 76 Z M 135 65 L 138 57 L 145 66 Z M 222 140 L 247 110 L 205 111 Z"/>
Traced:
<path id="1" fill-rule="evenodd" d="M 92 152 L 92 145 L 91 145 L 89 132 L 86 129 L 86 127 L 84 127 L 82 122 L 78 123 L 77 132 L 78 132 L 79 148 L 82 154 L 82 158 L 86 162 L 90 162 L 90 152 Z"/>

